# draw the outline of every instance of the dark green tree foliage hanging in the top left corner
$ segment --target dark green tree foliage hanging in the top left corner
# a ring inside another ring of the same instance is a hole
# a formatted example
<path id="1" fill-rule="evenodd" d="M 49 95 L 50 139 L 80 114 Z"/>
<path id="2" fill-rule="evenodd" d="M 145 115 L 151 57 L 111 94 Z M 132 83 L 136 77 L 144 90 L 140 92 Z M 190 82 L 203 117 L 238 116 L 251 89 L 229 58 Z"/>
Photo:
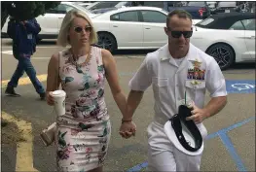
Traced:
<path id="1" fill-rule="evenodd" d="M 1 28 L 8 16 L 17 20 L 26 20 L 44 15 L 47 10 L 55 8 L 60 1 L 4 1 L 1 2 Z"/>

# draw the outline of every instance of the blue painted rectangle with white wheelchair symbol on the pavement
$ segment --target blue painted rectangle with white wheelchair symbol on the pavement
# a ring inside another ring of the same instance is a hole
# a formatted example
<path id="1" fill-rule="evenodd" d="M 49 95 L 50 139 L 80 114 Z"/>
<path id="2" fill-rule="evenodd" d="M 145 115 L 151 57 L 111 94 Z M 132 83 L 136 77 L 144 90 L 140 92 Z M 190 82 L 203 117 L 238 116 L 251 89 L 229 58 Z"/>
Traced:
<path id="1" fill-rule="evenodd" d="M 255 93 L 255 80 L 226 80 L 228 93 Z"/>

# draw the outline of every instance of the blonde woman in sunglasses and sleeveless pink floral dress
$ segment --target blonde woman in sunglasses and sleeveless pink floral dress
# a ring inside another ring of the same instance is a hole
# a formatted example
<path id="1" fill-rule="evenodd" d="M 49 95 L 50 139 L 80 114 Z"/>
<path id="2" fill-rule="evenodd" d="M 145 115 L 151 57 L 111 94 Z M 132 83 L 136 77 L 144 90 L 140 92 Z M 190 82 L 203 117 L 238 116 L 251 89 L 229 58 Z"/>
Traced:
<path id="1" fill-rule="evenodd" d="M 105 79 L 119 109 L 125 113 L 126 96 L 119 86 L 115 60 L 110 52 L 91 47 L 96 42 L 91 19 L 83 12 L 68 12 L 57 44 L 69 44 L 71 48 L 52 56 L 47 79 L 49 105 L 54 105 L 51 93 L 59 84 L 66 92 L 66 113 L 56 118 L 58 171 L 102 171 L 111 135 L 104 100 Z M 135 125 L 130 126 L 130 132 L 134 132 Z"/>

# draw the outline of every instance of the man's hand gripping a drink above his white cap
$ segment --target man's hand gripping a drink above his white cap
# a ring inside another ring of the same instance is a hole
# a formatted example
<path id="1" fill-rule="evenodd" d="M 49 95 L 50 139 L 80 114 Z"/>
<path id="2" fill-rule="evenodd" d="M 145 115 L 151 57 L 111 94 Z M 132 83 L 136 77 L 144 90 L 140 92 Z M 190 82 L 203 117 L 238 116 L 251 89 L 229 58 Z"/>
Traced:
<path id="1" fill-rule="evenodd" d="M 205 109 L 200 109 L 195 104 L 193 105 L 193 111 L 191 114 L 192 116 L 188 117 L 186 120 L 194 120 L 196 124 L 201 123 L 202 120 L 209 117 Z"/>

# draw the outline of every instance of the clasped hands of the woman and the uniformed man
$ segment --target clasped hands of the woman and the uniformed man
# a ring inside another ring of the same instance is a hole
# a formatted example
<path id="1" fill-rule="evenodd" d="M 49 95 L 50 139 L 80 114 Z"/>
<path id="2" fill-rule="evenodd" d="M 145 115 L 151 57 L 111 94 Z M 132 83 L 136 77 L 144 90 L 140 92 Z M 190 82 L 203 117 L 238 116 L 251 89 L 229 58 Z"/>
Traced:
<path id="1" fill-rule="evenodd" d="M 119 134 L 123 138 L 128 139 L 130 136 L 135 136 L 135 132 L 136 132 L 136 125 L 132 120 L 122 122 L 119 129 Z"/>

